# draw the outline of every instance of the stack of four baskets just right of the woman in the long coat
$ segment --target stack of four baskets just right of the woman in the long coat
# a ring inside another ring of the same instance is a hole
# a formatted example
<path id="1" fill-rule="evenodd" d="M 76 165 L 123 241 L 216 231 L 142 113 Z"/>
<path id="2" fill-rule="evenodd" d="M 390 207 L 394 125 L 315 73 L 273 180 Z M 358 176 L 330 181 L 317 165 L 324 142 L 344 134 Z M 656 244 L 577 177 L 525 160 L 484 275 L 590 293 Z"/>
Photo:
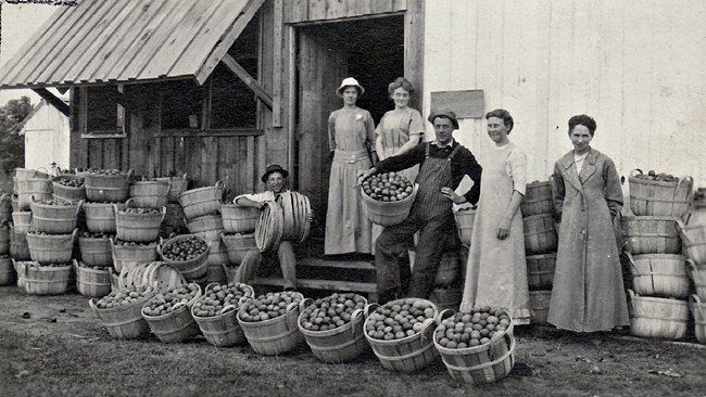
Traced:
<path id="1" fill-rule="evenodd" d="M 681 256 L 679 219 L 691 202 L 691 177 L 679 181 L 630 178 L 633 217 L 622 218 L 634 292 L 630 295 L 630 332 L 635 336 L 680 340 L 686 333 L 690 282 Z"/>

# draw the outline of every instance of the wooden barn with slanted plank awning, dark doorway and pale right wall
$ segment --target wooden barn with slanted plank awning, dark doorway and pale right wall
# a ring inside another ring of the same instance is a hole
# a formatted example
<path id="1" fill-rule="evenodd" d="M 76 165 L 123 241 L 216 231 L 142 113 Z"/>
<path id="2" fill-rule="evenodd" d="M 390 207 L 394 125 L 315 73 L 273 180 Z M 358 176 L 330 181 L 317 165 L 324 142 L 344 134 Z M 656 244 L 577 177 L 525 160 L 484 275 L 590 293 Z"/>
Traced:
<path id="1" fill-rule="evenodd" d="M 587 113 L 622 175 L 704 185 L 705 14 L 688 0 L 81 0 L 4 63 L 0 88 L 71 89 L 72 167 L 188 172 L 232 196 L 280 163 L 319 218 L 326 119 L 346 76 L 376 121 L 405 76 L 425 117 L 456 111 L 481 164 L 482 116 L 507 108 L 530 180 L 547 178 L 570 149 L 566 121 Z"/>

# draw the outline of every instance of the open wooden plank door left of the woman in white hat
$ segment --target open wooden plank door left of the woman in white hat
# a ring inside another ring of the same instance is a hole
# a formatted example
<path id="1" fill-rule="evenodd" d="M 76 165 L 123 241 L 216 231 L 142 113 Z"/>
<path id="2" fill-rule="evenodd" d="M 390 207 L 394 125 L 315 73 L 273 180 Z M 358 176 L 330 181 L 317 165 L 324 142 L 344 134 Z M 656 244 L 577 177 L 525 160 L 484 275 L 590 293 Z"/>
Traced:
<path id="1" fill-rule="evenodd" d="M 299 37 L 299 125 L 297 189 L 308 196 L 323 234 L 331 170 L 328 116 L 341 107 L 336 89 L 348 74 L 348 54 L 304 31 Z"/>

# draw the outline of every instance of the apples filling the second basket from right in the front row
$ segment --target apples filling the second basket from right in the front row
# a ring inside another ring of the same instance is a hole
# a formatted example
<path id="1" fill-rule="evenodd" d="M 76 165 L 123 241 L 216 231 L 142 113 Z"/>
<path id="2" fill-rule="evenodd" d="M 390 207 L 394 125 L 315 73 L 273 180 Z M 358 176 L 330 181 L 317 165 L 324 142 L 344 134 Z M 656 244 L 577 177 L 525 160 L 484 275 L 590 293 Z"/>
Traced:
<path id="1" fill-rule="evenodd" d="M 425 321 L 433 319 L 436 313 L 428 300 L 407 298 L 388 302 L 368 317 L 365 332 L 375 340 L 402 340 L 420 332 Z"/>

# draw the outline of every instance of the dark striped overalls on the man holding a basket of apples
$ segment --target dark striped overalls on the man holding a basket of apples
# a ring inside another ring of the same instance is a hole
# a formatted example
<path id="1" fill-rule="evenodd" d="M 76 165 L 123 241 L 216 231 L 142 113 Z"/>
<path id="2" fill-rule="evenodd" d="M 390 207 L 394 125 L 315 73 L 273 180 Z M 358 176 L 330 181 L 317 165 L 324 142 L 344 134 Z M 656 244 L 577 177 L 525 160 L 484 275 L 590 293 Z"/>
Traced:
<path id="1" fill-rule="evenodd" d="M 417 231 L 419 243 L 407 296 L 427 298 L 431 294 L 444 247 L 456 235 L 452 202 L 441 193 L 441 188 L 451 188 L 451 159 L 458 149 L 461 145 L 446 158 L 434 158 L 429 157 L 427 143 L 417 176 L 419 191 L 409 216 L 400 225 L 387 227 L 376 242 L 375 265 L 381 296 L 394 298 L 392 295 L 400 292 L 398 256 L 405 249 L 404 242 Z"/>

